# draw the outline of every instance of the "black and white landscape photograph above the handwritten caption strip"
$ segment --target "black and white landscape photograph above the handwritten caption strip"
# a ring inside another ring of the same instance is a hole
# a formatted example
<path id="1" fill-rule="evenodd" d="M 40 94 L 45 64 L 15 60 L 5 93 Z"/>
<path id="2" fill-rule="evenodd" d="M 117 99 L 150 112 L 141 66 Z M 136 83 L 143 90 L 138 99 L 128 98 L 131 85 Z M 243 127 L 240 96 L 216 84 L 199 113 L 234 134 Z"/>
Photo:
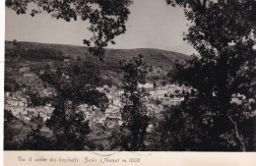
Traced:
<path id="1" fill-rule="evenodd" d="M 4 150 L 256 151 L 256 0 L 4 8 Z"/>

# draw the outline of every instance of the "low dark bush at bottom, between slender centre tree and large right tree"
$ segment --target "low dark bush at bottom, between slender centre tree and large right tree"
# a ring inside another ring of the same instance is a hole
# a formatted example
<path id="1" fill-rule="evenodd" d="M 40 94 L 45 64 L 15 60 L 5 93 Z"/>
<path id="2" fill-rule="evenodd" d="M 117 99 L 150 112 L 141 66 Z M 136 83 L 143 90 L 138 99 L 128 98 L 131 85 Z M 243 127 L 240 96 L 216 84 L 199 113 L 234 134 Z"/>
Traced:
<path id="1" fill-rule="evenodd" d="M 154 132 L 150 135 L 147 150 L 151 151 L 189 151 L 202 149 L 204 133 L 193 123 L 180 106 L 164 106 L 161 119 L 157 120 Z"/>

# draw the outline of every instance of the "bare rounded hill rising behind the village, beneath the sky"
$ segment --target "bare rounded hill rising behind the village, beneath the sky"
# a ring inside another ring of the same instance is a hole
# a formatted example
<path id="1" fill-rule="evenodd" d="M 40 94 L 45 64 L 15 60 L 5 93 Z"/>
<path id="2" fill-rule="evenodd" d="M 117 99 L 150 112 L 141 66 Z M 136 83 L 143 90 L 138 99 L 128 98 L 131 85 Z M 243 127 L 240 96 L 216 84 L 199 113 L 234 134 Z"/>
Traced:
<path id="1" fill-rule="evenodd" d="M 63 62 L 65 59 L 82 58 L 94 62 L 100 71 L 103 80 L 111 83 L 119 83 L 122 74 L 120 70 L 120 61 L 130 60 L 132 57 L 142 54 L 143 60 L 153 67 L 150 73 L 150 81 L 164 80 L 164 77 L 174 68 L 174 61 L 184 61 L 189 56 L 160 49 L 137 48 L 137 49 L 105 49 L 104 62 L 96 61 L 96 57 L 89 51 L 89 47 L 48 44 L 35 42 L 5 42 L 5 73 L 6 76 L 17 80 L 24 80 L 21 72 L 30 68 L 27 73 L 40 69 L 43 65 L 53 61 Z M 11 77 L 13 76 L 13 77 Z M 9 79 L 7 77 L 6 79 Z M 155 79 L 154 79 L 155 78 Z"/>

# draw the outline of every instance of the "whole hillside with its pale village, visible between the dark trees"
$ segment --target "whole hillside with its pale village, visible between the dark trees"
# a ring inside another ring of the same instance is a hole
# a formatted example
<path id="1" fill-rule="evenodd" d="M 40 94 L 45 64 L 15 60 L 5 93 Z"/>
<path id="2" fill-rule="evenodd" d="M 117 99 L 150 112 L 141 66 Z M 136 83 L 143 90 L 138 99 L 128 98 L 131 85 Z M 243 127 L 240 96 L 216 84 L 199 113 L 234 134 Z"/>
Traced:
<path id="1" fill-rule="evenodd" d="M 20 149 L 20 143 L 40 125 L 41 136 L 53 136 L 46 122 L 51 119 L 55 108 L 47 99 L 53 101 L 52 99 L 57 96 L 57 90 L 49 83 L 43 82 L 39 75 L 45 72 L 45 67 L 54 73 L 54 64 L 61 64 L 66 69 L 65 67 L 73 61 L 84 58 L 85 62 L 93 62 L 99 71 L 100 83 L 95 85 L 96 91 L 106 97 L 103 109 L 85 103 L 76 107 L 77 111 L 83 112 L 84 121 L 88 122 L 90 127 L 87 136 L 89 146 L 86 145 L 85 149 L 110 150 L 109 138 L 112 137 L 112 132 L 123 124 L 123 73 L 119 62 L 122 59 L 128 61 L 138 54 L 144 55 L 145 62 L 152 69 L 149 70 L 146 81 L 138 84 L 138 88 L 145 94 L 144 104 L 147 116 L 151 119 L 147 133 L 154 134 L 155 129 L 158 130 L 159 122 L 166 118 L 168 109 L 171 106 L 178 108 L 185 99 L 184 96 L 195 92 L 192 87 L 170 81 L 175 69 L 174 62 L 188 59 L 185 55 L 158 49 L 107 49 L 106 61 L 102 63 L 96 62 L 85 47 L 27 42 L 18 42 L 14 45 L 7 41 L 4 93 L 5 116 L 8 115 L 4 119 L 6 148 Z M 234 95 L 231 102 L 241 104 L 243 97 L 239 94 Z M 246 113 L 246 116 L 255 116 L 255 113 Z"/>

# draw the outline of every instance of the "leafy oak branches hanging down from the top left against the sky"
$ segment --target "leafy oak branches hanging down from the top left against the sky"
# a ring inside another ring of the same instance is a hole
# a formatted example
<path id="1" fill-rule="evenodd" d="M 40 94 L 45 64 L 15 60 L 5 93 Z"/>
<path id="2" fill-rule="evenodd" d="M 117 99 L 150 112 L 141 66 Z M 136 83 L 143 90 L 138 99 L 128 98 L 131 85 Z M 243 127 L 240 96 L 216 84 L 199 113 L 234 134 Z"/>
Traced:
<path id="1" fill-rule="evenodd" d="M 29 5 L 31 5 L 31 16 L 47 12 L 56 19 L 63 19 L 70 22 L 72 19 L 77 21 L 89 21 L 89 30 L 93 36 L 90 39 L 84 39 L 84 44 L 92 46 L 91 50 L 97 58 L 103 58 L 103 47 L 108 42 L 114 44 L 114 37 L 126 31 L 125 23 L 130 11 L 128 7 L 131 0 L 6 0 L 6 6 L 18 15 L 26 14 Z M 93 44 L 92 44 L 93 42 Z"/>

